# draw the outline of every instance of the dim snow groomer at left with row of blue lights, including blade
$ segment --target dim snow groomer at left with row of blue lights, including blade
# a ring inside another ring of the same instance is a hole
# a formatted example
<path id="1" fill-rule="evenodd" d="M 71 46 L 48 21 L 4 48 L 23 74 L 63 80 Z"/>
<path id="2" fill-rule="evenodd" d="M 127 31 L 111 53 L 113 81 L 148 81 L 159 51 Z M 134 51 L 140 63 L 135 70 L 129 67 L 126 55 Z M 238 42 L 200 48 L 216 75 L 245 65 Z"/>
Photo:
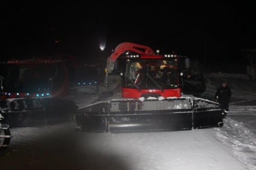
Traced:
<path id="1" fill-rule="evenodd" d="M 64 115 L 65 103 L 59 97 L 67 92 L 68 72 L 63 60 L 8 60 L 1 87 L 0 111 L 12 127 L 39 125 Z"/>

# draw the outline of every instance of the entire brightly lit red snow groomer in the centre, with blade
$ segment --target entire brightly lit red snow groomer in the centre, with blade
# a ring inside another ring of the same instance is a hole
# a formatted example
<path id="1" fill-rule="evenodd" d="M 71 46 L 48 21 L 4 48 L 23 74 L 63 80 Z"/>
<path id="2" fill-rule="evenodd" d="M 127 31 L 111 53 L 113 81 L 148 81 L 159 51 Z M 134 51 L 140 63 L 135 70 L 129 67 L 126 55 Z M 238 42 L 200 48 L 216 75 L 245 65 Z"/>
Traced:
<path id="1" fill-rule="evenodd" d="M 223 126 L 219 104 L 183 95 L 183 90 L 187 94 L 205 91 L 200 73 L 187 74 L 192 68 L 190 62 L 175 54 L 155 54 L 144 45 L 119 44 L 107 60 L 106 82 L 109 74 L 118 70 L 122 80 L 120 98 L 79 108 L 75 114 L 76 129 L 137 132 Z M 189 80 L 194 75 L 197 78 Z"/>

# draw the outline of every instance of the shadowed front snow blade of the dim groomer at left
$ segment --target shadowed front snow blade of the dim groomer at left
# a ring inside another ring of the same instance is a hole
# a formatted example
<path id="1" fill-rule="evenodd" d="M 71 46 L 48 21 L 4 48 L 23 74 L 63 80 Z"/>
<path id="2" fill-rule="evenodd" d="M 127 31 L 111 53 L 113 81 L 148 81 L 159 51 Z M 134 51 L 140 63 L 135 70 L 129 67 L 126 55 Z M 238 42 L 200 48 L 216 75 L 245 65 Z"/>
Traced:
<path id="1" fill-rule="evenodd" d="M 77 109 L 71 105 L 52 98 L 7 99 L 0 101 L 0 113 L 10 127 L 45 125 L 70 120 L 71 112 Z"/>

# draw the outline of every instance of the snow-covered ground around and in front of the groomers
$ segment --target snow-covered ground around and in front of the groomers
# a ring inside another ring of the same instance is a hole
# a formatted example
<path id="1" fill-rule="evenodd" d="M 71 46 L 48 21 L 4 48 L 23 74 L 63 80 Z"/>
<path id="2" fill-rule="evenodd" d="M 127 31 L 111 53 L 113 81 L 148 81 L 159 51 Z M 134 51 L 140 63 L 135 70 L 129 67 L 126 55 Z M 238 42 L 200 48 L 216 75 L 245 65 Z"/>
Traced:
<path id="1" fill-rule="evenodd" d="M 212 100 L 220 80 L 206 80 L 202 98 Z M 255 85 L 230 80 L 222 128 L 121 134 L 76 132 L 74 123 L 13 128 L 0 169 L 256 169 Z M 97 99 L 84 97 L 77 102 Z"/>

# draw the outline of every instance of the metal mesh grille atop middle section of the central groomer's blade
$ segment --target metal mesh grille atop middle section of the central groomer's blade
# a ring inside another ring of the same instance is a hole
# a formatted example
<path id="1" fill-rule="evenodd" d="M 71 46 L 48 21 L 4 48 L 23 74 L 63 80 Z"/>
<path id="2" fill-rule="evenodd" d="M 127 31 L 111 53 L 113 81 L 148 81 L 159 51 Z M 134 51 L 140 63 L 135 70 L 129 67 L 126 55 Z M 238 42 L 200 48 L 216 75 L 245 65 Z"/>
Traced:
<path id="1" fill-rule="evenodd" d="M 112 101 L 110 112 L 189 110 L 190 100 Z"/>

